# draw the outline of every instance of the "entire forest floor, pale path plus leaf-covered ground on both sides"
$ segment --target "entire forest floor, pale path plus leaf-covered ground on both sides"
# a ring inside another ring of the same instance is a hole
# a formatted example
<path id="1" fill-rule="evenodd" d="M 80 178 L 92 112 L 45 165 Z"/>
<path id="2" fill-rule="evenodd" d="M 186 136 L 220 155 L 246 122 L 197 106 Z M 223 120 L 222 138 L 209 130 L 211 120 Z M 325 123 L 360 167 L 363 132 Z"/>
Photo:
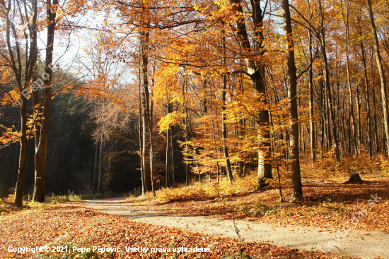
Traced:
<path id="1" fill-rule="evenodd" d="M 16 211 L 0 217 L 0 258 L 389 258 L 389 180 L 362 178 L 364 184 L 347 185 L 344 179 L 305 179 L 304 199 L 298 203 L 280 203 L 272 188 L 211 197 L 207 188 L 214 183 L 203 183 L 190 190 L 162 189 L 156 198 L 149 194 Z M 236 181 L 233 188 L 244 183 Z M 289 192 L 284 188 L 285 197 Z M 68 252 L 8 250 L 34 246 Z M 93 246 L 121 251 L 72 251 Z M 211 252 L 150 250 L 196 246 Z M 138 247 L 149 251 L 125 250 Z"/>

